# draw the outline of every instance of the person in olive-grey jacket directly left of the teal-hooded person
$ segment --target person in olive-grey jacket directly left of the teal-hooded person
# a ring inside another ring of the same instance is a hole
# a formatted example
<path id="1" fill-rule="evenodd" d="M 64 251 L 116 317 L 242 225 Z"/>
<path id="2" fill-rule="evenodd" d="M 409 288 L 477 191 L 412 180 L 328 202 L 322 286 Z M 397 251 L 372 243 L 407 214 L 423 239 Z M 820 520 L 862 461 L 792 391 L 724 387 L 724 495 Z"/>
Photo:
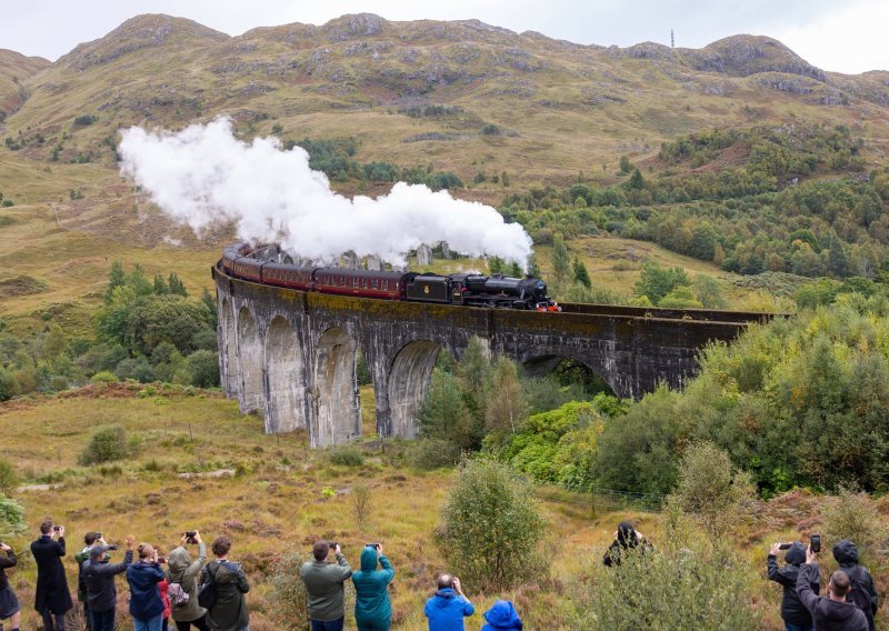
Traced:
<path id="1" fill-rule="evenodd" d="M 307 561 L 299 569 L 299 575 L 306 583 L 312 631 L 342 631 L 346 622 L 342 583 L 352 575 L 352 569 L 338 543 L 333 544 L 336 564 L 327 562 L 329 554 L 330 544 L 327 541 L 316 541 L 312 545 L 314 561 Z"/>

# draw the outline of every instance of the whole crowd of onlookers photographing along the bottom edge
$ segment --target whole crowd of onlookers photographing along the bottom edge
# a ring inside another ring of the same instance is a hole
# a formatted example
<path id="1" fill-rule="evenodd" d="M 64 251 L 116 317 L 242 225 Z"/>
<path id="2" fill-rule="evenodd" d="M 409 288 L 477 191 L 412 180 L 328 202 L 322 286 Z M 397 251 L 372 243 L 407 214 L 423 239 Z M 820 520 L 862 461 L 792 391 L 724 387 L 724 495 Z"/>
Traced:
<path id="1" fill-rule="evenodd" d="M 150 543 L 124 540 L 123 560 L 111 562 L 117 545 L 106 542 L 99 532 L 88 532 L 84 547 L 74 554 L 78 564 L 78 600 L 82 603 L 89 631 L 117 629 L 117 583 L 114 577 L 126 574 L 129 584 L 129 612 L 136 631 L 168 631 L 172 621 L 178 631 L 192 627 L 199 631 L 249 631 L 244 595 L 250 583 L 240 563 L 229 560 L 231 540 L 218 537 L 211 544 L 213 560 L 207 562 L 207 545 L 199 531 L 182 533 L 179 547 L 163 558 Z M 197 547 L 192 558 L 189 547 Z M 646 554 L 650 542 L 630 522 L 620 522 L 615 541 L 602 562 L 621 564 L 625 554 Z M 783 567 L 778 554 L 785 553 Z M 19 601 L 3 572 L 18 559 L 14 551 L 0 543 L 0 631 L 9 620 L 12 631 L 20 631 Z M 767 562 L 770 580 L 783 587 L 781 618 L 786 631 L 875 631 L 878 610 L 873 578 L 858 563 L 858 549 L 848 539 L 833 545 L 839 569 L 830 574 L 827 595 L 819 595 L 818 553 L 820 537 L 813 535 L 808 547 L 802 542 L 775 543 Z M 43 631 L 64 631 L 64 618 L 73 608 L 62 557 L 67 554 L 64 528 L 47 519 L 40 524 L 40 537 L 31 543 L 37 562 L 34 609 L 43 619 Z M 331 554 L 333 559 L 331 560 Z M 388 631 L 392 608 L 389 583 L 396 570 L 383 554 L 380 543 L 368 543 L 361 550 L 360 569 L 352 571 L 339 544 L 317 541 L 313 560 L 299 569 L 306 587 L 307 610 L 312 631 L 342 631 L 346 622 L 344 583 L 354 585 L 354 621 L 359 631 Z M 138 559 L 137 559 L 138 558 Z M 164 567 L 166 565 L 166 570 Z M 463 593 L 460 579 L 440 574 L 437 591 L 426 602 L 423 613 L 429 631 L 462 631 L 463 619 L 476 608 Z M 483 613 L 482 631 L 521 630 L 522 622 L 513 604 L 499 600 Z"/>

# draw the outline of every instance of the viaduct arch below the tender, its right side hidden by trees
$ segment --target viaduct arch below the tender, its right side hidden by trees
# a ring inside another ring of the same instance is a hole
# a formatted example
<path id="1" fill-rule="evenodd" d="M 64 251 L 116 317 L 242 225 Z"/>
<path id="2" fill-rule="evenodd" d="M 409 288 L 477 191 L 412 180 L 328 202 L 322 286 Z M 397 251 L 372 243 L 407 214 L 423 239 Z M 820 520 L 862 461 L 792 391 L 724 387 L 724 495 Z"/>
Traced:
<path id="1" fill-rule="evenodd" d="M 417 438 L 417 411 L 426 400 L 440 351 L 441 344 L 417 340 L 401 347 L 392 360 L 387 384 L 392 435 Z"/>

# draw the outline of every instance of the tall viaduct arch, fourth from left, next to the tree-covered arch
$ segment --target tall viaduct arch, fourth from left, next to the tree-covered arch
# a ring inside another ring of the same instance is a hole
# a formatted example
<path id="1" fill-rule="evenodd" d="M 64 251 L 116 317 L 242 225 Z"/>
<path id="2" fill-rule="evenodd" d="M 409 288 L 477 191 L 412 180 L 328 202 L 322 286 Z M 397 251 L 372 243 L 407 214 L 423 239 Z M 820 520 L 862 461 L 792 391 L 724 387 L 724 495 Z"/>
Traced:
<path id="1" fill-rule="evenodd" d="M 311 392 L 312 447 L 348 442 L 361 435 L 361 409 L 354 374 L 357 342 L 334 327 L 318 340 Z"/>

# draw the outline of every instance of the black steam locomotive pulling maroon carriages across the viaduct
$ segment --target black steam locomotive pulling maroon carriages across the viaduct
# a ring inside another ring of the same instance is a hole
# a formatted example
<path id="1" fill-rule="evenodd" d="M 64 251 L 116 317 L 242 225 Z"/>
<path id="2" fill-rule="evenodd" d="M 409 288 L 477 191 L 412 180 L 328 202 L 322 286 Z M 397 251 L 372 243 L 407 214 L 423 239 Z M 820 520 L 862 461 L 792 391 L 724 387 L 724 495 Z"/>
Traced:
<path id="1" fill-rule="evenodd" d="M 220 264 L 227 274 L 248 281 L 300 291 L 319 291 L 358 298 L 465 304 L 498 309 L 561 311 L 547 296 L 547 283 L 537 278 L 490 277 L 478 273 L 434 273 L 319 268 L 268 260 L 262 249 L 247 243 L 226 248 Z"/>

